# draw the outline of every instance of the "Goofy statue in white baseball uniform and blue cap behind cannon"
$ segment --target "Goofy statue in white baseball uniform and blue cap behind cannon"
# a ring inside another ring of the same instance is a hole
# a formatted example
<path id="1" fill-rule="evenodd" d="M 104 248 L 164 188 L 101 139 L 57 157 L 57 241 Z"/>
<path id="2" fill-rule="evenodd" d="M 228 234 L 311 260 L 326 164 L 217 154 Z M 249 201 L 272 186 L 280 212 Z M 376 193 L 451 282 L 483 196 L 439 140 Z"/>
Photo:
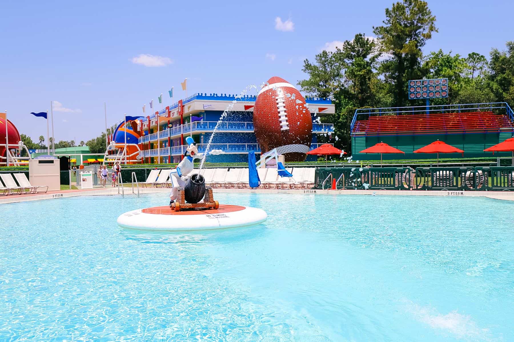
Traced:
<path id="1" fill-rule="evenodd" d="M 189 174 L 193 171 L 194 168 L 194 159 L 202 159 L 204 157 L 204 153 L 198 153 L 198 148 L 196 147 L 196 143 L 193 138 L 188 136 L 186 138 L 186 143 L 189 145 L 186 148 L 189 155 L 182 159 L 180 163 L 178 163 L 177 168 L 170 172 L 170 181 L 172 184 L 172 189 L 170 193 L 170 206 L 178 196 L 178 189 L 186 186 L 186 182 L 189 179 Z M 211 150 L 208 152 L 209 154 L 218 155 L 225 153 L 222 150 Z"/>

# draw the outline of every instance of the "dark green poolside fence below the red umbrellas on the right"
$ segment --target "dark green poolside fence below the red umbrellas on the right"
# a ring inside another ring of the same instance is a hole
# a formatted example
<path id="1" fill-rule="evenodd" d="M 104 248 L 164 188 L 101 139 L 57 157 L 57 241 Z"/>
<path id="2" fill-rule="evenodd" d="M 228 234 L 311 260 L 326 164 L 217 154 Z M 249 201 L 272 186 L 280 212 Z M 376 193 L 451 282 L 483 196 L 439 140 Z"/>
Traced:
<path id="1" fill-rule="evenodd" d="M 514 167 L 319 168 L 318 189 L 329 174 L 336 189 L 514 191 Z"/>

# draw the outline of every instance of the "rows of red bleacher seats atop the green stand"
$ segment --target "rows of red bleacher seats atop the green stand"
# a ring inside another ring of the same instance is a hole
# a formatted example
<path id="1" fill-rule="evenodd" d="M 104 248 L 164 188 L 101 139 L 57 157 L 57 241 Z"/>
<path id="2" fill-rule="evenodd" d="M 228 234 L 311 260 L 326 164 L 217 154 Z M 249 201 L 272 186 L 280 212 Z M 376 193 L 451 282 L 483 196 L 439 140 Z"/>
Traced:
<path id="1" fill-rule="evenodd" d="M 492 112 L 370 116 L 355 123 L 352 133 L 366 135 L 487 133 L 512 129 L 506 115 Z"/>

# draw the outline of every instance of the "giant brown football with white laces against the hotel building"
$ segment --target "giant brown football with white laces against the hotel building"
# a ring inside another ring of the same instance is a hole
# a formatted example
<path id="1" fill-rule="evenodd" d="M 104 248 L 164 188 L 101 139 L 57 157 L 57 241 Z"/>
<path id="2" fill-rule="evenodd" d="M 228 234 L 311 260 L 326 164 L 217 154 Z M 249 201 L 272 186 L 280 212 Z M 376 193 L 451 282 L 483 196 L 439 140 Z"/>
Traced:
<path id="1" fill-rule="evenodd" d="M 274 148 L 286 162 L 302 162 L 310 150 L 313 119 L 295 86 L 277 76 L 262 87 L 253 108 L 253 127 L 261 151 Z"/>

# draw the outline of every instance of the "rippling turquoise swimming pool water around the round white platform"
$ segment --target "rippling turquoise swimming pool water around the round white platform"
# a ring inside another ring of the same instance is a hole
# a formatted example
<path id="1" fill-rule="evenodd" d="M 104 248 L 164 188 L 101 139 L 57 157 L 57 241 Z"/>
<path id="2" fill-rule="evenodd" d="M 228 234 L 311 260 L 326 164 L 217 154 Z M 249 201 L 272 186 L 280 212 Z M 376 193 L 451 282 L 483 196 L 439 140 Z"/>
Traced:
<path id="1" fill-rule="evenodd" d="M 207 234 L 116 225 L 166 194 L 0 206 L 0 340 L 514 340 L 514 203 L 216 197 L 268 220 Z"/>

